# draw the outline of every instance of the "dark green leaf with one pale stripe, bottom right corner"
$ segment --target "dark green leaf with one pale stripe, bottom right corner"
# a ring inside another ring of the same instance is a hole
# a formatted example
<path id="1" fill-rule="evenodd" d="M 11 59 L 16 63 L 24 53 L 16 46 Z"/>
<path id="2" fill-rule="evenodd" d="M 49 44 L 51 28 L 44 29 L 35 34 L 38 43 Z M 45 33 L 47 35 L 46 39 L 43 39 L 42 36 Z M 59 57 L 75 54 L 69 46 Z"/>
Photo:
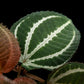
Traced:
<path id="1" fill-rule="evenodd" d="M 50 74 L 47 84 L 84 84 L 84 64 L 65 64 Z"/>

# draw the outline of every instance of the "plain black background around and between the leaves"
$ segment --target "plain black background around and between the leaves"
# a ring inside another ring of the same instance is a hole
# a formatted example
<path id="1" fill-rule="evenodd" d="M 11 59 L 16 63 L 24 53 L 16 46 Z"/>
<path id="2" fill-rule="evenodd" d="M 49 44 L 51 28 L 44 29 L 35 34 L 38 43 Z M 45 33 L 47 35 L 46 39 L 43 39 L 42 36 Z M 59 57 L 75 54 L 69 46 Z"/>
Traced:
<path id="1" fill-rule="evenodd" d="M 5 3 L 5 4 L 4 4 Z M 41 1 L 31 1 L 31 2 L 14 2 L 11 1 L 11 3 L 7 4 L 6 2 L 1 3 L 0 5 L 0 23 L 3 23 L 6 25 L 9 29 L 15 23 L 17 20 L 19 20 L 21 17 L 30 14 L 32 12 L 36 11 L 55 11 L 62 13 L 72 19 L 74 25 L 77 27 L 77 29 L 81 33 L 81 40 L 80 45 L 76 51 L 76 53 L 73 55 L 70 62 L 81 62 L 84 63 L 84 5 L 82 2 L 71 2 L 67 1 L 63 3 L 62 1 L 56 2 L 56 1 L 47 1 L 47 2 L 41 2 Z M 12 72 L 11 72 L 12 73 Z M 10 74 L 11 74 L 10 73 Z M 50 73 L 49 71 L 44 70 L 33 70 L 30 71 L 30 73 L 39 74 L 40 77 L 43 77 L 44 79 L 47 78 L 47 74 Z M 13 73 L 12 73 L 13 74 Z M 10 76 L 10 75 L 9 75 Z"/>

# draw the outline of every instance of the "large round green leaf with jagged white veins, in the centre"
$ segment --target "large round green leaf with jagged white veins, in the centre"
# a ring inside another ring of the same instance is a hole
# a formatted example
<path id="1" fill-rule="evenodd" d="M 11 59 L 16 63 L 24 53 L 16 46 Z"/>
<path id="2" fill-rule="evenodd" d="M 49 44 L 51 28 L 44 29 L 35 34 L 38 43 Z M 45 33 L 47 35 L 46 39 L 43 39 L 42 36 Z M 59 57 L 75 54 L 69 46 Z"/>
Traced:
<path id="1" fill-rule="evenodd" d="M 80 33 L 72 21 L 57 12 L 26 15 L 11 27 L 21 47 L 19 62 L 28 70 L 53 70 L 64 65 L 78 48 Z"/>

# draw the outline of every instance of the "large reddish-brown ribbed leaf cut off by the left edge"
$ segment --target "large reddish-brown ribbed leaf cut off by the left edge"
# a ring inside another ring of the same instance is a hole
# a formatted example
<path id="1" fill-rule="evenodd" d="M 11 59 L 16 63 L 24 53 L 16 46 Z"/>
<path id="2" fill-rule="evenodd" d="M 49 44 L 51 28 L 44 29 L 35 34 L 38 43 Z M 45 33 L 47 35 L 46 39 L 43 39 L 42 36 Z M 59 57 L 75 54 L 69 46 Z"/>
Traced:
<path id="1" fill-rule="evenodd" d="M 18 63 L 20 48 L 14 35 L 0 24 L 0 73 L 10 72 Z"/>

